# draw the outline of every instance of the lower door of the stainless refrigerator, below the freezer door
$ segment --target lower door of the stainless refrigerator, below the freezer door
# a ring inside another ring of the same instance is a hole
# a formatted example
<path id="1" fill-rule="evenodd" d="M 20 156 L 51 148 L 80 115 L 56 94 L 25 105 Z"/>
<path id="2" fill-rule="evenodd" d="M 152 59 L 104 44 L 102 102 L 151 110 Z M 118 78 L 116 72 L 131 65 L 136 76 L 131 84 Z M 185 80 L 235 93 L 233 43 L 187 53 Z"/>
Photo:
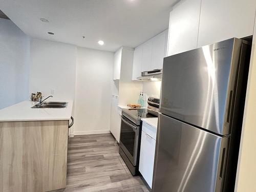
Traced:
<path id="1" fill-rule="evenodd" d="M 153 192 L 220 192 L 228 137 L 160 115 Z"/>

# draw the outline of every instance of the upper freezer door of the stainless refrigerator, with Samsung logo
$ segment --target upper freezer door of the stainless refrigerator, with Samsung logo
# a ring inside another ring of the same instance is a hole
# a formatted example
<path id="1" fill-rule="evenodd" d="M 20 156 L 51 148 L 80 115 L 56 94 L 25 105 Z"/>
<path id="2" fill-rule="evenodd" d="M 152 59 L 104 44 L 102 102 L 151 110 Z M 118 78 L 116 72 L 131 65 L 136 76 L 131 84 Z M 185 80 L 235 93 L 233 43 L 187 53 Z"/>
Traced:
<path id="1" fill-rule="evenodd" d="M 165 57 L 160 112 L 220 135 L 230 134 L 241 45 L 241 39 L 232 38 Z"/>

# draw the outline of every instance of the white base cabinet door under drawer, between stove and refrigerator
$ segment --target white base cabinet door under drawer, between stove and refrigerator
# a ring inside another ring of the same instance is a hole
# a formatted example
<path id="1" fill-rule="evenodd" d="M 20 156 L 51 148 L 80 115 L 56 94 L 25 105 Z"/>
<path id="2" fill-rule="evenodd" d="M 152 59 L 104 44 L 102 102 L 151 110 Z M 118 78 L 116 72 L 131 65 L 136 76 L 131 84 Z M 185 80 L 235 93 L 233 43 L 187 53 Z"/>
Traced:
<path id="1" fill-rule="evenodd" d="M 152 188 L 156 141 L 146 133 L 141 133 L 139 171 Z"/>

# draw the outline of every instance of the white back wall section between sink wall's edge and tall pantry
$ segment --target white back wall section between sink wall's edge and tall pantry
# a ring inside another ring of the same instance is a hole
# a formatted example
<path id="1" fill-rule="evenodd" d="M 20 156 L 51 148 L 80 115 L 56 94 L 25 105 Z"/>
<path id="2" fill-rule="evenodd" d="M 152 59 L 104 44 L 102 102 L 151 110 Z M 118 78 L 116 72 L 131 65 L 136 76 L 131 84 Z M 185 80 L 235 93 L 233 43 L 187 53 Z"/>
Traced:
<path id="1" fill-rule="evenodd" d="M 114 53 L 77 50 L 74 134 L 109 133 Z"/>

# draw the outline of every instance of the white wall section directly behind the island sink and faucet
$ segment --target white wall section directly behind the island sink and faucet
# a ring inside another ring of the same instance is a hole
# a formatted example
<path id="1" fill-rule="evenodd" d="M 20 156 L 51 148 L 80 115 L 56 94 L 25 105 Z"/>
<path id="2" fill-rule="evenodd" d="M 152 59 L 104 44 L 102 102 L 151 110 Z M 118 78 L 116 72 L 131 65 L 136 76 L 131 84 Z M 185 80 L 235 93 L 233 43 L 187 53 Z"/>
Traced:
<path id="1" fill-rule="evenodd" d="M 75 99 L 77 47 L 61 42 L 31 39 L 30 93 L 53 99 Z"/>

